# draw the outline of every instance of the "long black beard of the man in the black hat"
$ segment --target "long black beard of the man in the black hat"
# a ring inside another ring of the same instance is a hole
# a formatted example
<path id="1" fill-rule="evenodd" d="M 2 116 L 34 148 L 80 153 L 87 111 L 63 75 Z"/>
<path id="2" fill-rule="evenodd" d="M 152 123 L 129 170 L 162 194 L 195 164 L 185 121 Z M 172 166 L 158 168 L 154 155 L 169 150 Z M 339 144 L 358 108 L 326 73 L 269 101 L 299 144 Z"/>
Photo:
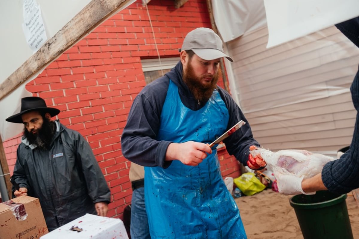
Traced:
<path id="1" fill-rule="evenodd" d="M 24 128 L 24 137 L 29 141 L 31 145 L 36 145 L 41 150 L 49 150 L 52 137 L 55 135 L 56 125 L 55 122 L 51 122 L 46 117 L 43 117 L 43 123 L 41 128 L 36 134 L 29 132 Z"/>

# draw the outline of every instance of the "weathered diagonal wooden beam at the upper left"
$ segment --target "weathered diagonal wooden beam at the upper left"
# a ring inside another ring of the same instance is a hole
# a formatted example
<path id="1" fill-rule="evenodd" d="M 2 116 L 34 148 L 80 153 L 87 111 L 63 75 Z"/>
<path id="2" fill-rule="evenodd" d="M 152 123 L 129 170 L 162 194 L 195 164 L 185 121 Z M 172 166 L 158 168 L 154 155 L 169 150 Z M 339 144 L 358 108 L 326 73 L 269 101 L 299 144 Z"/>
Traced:
<path id="1" fill-rule="evenodd" d="M 132 0 L 92 0 L 0 84 L 0 100 L 45 68 L 104 20 Z"/>

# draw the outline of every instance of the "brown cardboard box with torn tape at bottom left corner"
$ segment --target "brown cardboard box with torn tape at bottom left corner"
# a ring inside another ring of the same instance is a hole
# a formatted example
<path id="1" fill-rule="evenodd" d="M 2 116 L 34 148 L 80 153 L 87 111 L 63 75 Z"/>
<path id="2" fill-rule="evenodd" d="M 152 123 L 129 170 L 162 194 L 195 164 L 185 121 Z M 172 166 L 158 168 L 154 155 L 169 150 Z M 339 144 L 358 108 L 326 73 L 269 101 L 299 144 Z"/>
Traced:
<path id="1" fill-rule="evenodd" d="M 0 239 L 36 239 L 46 233 L 39 199 L 21 196 L 0 203 Z"/>

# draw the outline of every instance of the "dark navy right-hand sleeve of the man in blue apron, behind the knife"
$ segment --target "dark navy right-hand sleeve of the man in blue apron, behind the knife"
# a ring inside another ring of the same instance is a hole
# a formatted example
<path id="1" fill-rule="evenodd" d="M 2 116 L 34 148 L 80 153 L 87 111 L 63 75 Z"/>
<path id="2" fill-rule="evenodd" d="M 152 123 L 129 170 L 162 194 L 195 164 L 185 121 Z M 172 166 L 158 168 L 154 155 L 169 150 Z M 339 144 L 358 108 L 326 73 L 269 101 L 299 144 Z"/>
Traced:
<path id="1" fill-rule="evenodd" d="M 237 103 L 234 102 L 232 97 L 223 89 L 220 91 L 220 94 L 227 106 L 229 113 L 227 130 L 240 120 L 246 122 L 245 125 L 226 138 L 223 142 L 226 145 L 229 155 L 234 155 L 234 157 L 236 157 L 239 162 L 241 162 L 244 166 L 247 166 L 249 147 L 251 145 L 260 147 L 260 145 L 253 138 L 251 126 L 248 123 L 246 117 L 244 117 L 243 112 L 238 107 Z"/>

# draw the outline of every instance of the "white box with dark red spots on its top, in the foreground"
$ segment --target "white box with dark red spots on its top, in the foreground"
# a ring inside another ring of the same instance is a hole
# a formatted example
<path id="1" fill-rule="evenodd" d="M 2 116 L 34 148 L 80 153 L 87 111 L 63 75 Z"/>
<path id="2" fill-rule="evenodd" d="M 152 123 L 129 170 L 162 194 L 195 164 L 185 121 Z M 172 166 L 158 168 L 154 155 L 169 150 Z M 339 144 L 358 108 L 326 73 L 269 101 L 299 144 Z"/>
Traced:
<path id="1" fill-rule="evenodd" d="M 41 239 L 128 239 L 121 219 L 86 214 L 60 226 Z"/>

